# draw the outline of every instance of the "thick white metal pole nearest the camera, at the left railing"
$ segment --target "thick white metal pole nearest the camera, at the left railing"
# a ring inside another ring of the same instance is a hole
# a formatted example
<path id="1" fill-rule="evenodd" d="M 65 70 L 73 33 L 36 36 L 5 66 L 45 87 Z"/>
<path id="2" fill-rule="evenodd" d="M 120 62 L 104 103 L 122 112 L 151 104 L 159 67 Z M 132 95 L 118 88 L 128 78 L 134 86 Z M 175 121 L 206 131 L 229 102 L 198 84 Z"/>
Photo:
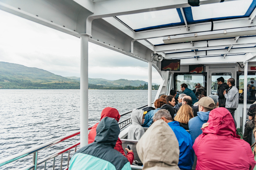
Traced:
<path id="1" fill-rule="evenodd" d="M 81 35 L 81 68 L 80 68 L 80 145 L 88 144 L 88 40 Z"/>

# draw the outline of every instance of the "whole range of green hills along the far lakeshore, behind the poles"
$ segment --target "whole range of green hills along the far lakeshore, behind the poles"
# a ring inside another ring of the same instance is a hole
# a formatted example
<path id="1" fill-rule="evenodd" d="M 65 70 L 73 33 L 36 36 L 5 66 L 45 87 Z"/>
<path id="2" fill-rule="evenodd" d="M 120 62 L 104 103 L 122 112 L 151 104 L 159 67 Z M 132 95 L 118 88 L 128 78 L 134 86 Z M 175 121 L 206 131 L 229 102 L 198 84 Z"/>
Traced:
<path id="1" fill-rule="evenodd" d="M 104 87 L 141 86 L 142 80 L 88 78 L 89 84 Z M 155 85 L 156 83 L 152 83 Z M 156 84 L 158 85 L 158 84 Z M 62 77 L 49 71 L 20 64 L 0 62 L 0 89 L 79 89 L 80 77 Z"/>

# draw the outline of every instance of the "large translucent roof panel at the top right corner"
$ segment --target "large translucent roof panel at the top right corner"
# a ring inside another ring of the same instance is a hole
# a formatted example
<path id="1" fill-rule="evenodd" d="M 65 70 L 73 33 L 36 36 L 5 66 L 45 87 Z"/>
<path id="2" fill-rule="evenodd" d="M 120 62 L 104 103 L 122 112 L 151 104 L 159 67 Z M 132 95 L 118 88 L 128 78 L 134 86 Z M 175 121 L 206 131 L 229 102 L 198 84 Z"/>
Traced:
<path id="1" fill-rule="evenodd" d="M 193 20 L 245 15 L 253 0 L 224 1 L 191 7 Z"/>

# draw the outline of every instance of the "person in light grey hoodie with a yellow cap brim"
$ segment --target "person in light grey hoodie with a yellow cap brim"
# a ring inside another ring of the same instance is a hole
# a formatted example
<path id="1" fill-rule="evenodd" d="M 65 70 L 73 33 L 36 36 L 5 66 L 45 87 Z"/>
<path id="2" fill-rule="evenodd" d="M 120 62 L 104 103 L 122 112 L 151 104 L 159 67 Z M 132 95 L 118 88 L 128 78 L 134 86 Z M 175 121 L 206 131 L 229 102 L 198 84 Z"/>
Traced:
<path id="1" fill-rule="evenodd" d="M 146 114 L 147 112 L 137 109 L 132 111 L 132 125 L 130 126 L 128 131 L 128 139 L 140 140 L 141 136 L 145 133 L 143 127 L 141 126 L 145 120 L 144 113 Z"/>

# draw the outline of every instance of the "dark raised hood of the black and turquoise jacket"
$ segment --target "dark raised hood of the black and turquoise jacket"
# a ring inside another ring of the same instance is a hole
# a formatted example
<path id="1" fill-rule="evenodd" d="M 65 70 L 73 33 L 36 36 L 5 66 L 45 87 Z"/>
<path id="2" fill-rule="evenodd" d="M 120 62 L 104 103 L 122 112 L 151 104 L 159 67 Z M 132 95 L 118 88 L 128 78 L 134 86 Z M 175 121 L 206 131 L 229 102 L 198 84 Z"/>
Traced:
<path id="1" fill-rule="evenodd" d="M 96 128 L 95 142 L 115 147 L 120 128 L 114 118 L 103 118 Z"/>

